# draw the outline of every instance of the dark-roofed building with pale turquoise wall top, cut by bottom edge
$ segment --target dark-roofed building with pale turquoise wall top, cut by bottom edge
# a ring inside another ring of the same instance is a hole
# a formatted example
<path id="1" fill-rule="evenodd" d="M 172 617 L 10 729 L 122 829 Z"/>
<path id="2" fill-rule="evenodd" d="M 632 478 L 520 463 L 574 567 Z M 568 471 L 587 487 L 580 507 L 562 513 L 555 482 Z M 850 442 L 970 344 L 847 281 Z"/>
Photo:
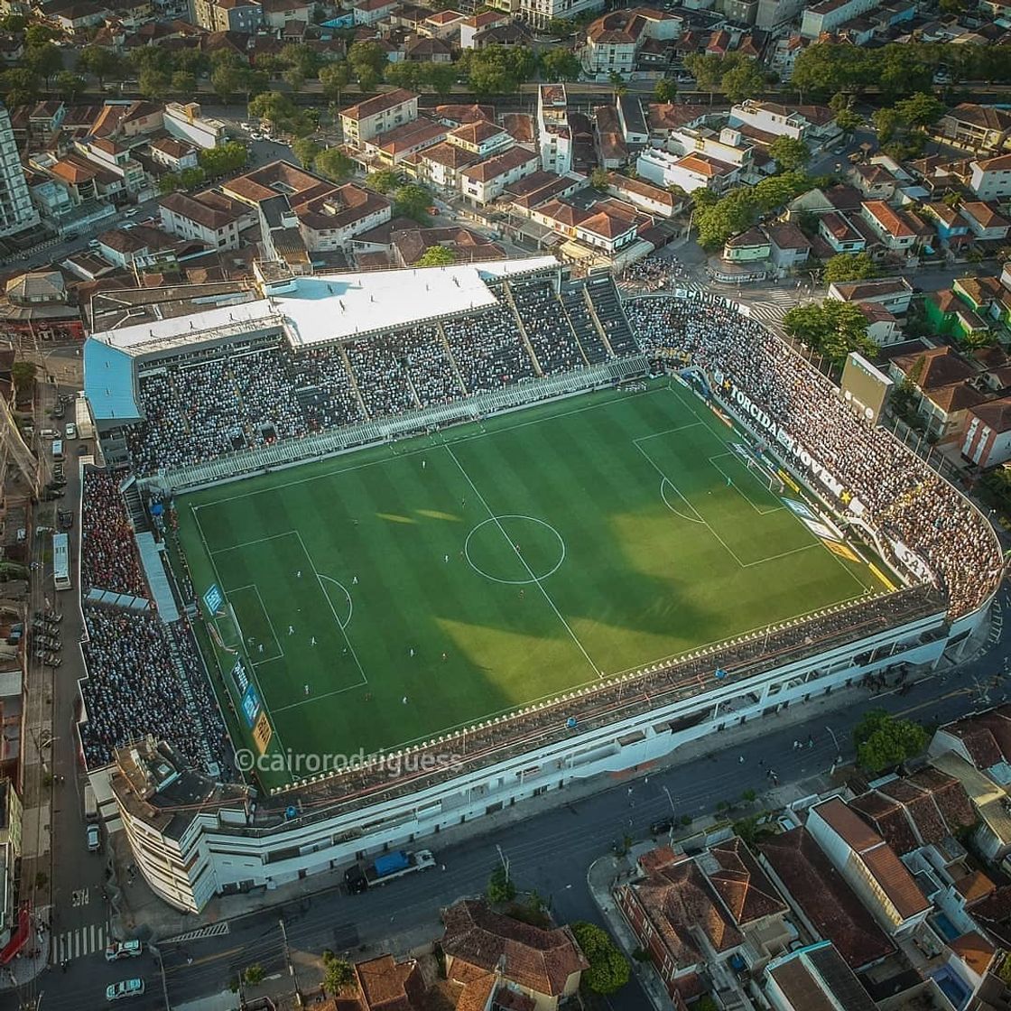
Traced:
<path id="1" fill-rule="evenodd" d="M 831 941 L 783 954 L 765 967 L 764 994 L 772 1011 L 877 1011 L 878 1005 Z"/>

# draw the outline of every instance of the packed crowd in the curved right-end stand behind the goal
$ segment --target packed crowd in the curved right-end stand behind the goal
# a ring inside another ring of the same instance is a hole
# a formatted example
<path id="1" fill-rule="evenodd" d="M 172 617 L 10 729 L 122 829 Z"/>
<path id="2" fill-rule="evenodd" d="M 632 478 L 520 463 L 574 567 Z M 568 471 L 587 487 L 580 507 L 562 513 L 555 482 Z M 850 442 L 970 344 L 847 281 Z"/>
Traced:
<path id="1" fill-rule="evenodd" d="M 711 382 L 732 380 L 790 432 L 845 485 L 854 500 L 847 508 L 862 507 L 872 528 L 926 563 L 952 617 L 993 591 L 1002 559 L 984 518 L 918 456 L 857 417 L 783 341 L 722 300 L 638 299 L 626 309 L 644 345 L 676 343 Z"/>

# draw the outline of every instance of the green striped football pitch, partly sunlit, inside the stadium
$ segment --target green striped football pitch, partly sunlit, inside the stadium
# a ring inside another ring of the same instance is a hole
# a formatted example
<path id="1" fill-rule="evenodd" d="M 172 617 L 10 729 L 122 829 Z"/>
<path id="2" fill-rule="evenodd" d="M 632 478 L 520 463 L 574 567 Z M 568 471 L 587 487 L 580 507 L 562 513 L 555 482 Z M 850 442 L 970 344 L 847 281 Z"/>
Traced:
<path id="1" fill-rule="evenodd" d="M 387 751 L 880 590 L 735 441 L 663 380 L 185 495 L 225 691 L 271 752 Z"/>

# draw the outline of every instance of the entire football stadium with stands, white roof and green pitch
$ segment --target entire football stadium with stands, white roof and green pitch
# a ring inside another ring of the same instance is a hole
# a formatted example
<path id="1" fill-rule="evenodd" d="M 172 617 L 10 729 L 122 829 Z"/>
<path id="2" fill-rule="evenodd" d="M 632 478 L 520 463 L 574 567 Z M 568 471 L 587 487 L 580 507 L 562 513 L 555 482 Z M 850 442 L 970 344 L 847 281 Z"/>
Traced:
<path id="1" fill-rule="evenodd" d="M 262 267 L 85 368 L 82 752 L 182 909 L 935 663 L 1002 572 L 736 305 L 553 258 Z"/>

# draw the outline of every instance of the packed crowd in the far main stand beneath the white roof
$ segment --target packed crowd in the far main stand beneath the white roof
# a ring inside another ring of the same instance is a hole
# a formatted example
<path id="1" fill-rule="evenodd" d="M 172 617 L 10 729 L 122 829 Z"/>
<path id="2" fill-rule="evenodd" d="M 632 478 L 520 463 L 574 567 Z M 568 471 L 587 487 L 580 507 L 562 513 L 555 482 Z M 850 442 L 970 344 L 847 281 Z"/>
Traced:
<path id="1" fill-rule="evenodd" d="M 159 362 L 139 379 L 145 420 L 127 431 L 134 469 L 203 463 L 533 378 L 537 368 L 524 334 L 545 375 L 638 350 L 626 340 L 624 317 L 614 318 L 621 310 L 610 281 L 595 278 L 587 290 L 603 299 L 611 349 L 581 291 L 573 298 L 567 288 L 560 299 L 547 278 L 489 288 L 497 307 L 447 319 L 441 333 L 406 328 L 345 348 L 300 351 L 276 340 L 242 340 Z"/>

